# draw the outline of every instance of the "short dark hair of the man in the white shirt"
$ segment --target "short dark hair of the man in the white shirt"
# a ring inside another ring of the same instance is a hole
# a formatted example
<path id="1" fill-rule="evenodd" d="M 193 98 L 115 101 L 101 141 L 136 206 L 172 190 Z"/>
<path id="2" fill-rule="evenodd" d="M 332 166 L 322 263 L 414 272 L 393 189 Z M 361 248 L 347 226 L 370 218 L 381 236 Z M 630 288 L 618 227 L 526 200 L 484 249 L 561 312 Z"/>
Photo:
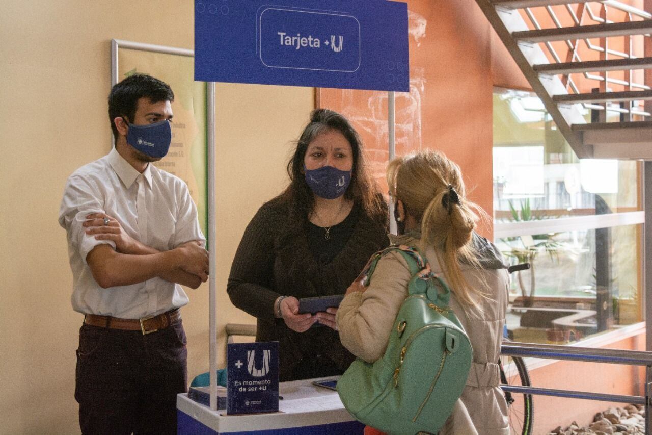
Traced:
<path id="1" fill-rule="evenodd" d="M 113 120 L 118 116 L 126 116 L 130 123 L 136 117 L 138 100 L 147 97 L 152 103 L 159 101 L 174 101 L 174 93 L 168 84 L 148 76 L 147 74 L 134 74 L 111 88 L 109 93 L 109 120 L 113 136 L 118 137 L 117 128 Z"/>

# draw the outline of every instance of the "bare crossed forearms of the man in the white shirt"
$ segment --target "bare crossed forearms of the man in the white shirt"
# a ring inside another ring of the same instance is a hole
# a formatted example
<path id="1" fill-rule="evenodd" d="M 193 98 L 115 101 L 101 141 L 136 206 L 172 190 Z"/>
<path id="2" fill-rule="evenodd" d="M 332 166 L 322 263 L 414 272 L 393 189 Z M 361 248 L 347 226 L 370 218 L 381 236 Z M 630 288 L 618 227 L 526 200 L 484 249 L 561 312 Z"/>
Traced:
<path id="1" fill-rule="evenodd" d="M 104 225 L 104 218 L 109 219 Z M 159 277 L 193 289 L 208 279 L 208 252 L 193 240 L 169 251 L 158 251 L 125 232 L 117 219 L 104 213 L 86 216 L 85 233 L 112 240 L 93 248 L 86 257 L 93 278 L 102 288 L 130 285 Z"/>

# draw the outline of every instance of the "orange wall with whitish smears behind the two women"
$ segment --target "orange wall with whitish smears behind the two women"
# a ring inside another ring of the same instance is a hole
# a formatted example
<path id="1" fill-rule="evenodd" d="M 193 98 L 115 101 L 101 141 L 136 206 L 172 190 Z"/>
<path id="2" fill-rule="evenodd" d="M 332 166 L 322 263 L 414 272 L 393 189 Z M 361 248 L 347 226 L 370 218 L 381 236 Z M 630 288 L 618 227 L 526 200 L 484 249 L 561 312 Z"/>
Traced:
<path id="1" fill-rule="evenodd" d="M 413 0 L 408 8 L 411 90 L 396 93 L 396 153 L 443 151 L 462 167 L 471 201 L 491 214 L 492 30 L 471 0 Z M 318 89 L 318 104 L 353 121 L 386 191 L 387 93 Z M 492 223 L 481 232 L 491 236 Z"/>

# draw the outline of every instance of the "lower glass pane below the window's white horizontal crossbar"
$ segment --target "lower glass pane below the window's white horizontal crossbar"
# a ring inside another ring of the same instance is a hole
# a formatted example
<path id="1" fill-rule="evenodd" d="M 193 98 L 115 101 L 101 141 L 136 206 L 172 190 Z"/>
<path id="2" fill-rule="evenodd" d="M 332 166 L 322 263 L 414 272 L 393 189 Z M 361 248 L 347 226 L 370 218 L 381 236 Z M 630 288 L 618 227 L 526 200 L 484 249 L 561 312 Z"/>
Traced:
<path id="1" fill-rule="evenodd" d="M 497 240 L 510 263 L 507 330 L 518 342 L 565 344 L 641 319 L 642 225 Z"/>

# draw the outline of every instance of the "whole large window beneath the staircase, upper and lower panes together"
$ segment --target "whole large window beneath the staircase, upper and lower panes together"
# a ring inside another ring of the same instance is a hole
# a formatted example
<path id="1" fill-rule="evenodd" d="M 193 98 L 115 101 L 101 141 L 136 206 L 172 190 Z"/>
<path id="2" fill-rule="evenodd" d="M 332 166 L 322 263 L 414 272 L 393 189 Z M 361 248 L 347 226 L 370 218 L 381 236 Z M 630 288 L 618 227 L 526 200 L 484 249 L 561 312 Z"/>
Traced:
<path id="1" fill-rule="evenodd" d="M 590 114 L 587 113 L 587 117 Z M 494 238 L 509 335 L 569 343 L 641 319 L 640 164 L 578 159 L 535 94 L 494 92 Z"/>

